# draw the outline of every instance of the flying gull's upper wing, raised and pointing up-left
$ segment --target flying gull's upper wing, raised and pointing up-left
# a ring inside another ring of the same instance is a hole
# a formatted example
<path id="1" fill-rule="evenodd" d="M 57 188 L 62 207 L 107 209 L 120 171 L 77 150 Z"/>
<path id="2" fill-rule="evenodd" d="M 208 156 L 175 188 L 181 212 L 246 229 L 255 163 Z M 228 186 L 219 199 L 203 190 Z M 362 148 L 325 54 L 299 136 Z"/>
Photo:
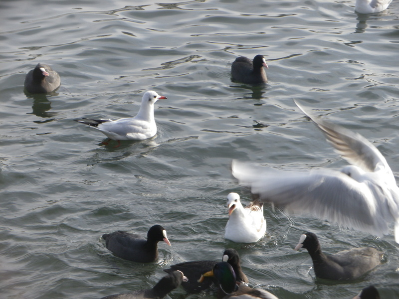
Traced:
<path id="1" fill-rule="evenodd" d="M 366 138 L 341 126 L 331 124 L 313 116 L 306 111 L 297 101 L 295 104 L 325 133 L 330 144 L 351 164 L 362 168 L 364 171 L 377 171 L 384 169 L 394 176 L 387 160 L 382 153 Z"/>

